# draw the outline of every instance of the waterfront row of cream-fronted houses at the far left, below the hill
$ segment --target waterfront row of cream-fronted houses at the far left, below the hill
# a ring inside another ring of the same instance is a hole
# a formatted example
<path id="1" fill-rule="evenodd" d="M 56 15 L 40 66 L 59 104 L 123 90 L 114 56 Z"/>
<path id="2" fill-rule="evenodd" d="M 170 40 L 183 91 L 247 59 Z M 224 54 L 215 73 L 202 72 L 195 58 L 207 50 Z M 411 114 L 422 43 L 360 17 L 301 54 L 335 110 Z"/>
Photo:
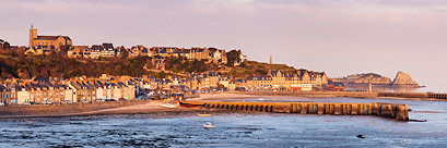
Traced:
<path id="1" fill-rule="evenodd" d="M 94 102 L 97 99 L 133 100 L 134 98 L 136 85 L 131 81 L 38 77 L 9 78 L 0 84 L 2 104 Z"/>

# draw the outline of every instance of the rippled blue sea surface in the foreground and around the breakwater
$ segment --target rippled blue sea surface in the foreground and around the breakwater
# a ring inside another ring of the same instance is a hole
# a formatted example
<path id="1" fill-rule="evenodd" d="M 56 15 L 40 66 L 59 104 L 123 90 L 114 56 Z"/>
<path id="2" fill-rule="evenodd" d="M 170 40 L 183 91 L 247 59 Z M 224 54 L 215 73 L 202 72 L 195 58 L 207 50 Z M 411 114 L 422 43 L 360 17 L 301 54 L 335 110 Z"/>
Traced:
<path id="1" fill-rule="evenodd" d="M 410 119 L 426 122 L 396 122 L 366 115 L 286 113 L 213 113 L 210 118 L 195 113 L 153 113 L 1 119 L 0 147 L 447 147 L 447 102 L 295 97 L 263 99 L 408 103 L 413 110 Z M 203 128 L 205 122 L 213 123 L 215 128 Z"/>

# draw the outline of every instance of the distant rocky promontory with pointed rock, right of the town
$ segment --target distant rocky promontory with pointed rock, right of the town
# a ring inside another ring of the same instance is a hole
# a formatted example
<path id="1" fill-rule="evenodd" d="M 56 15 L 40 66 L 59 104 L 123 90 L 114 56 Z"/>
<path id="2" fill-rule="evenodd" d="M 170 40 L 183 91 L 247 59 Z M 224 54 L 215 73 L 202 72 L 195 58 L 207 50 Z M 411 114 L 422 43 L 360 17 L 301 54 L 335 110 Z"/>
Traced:
<path id="1" fill-rule="evenodd" d="M 341 82 L 344 85 L 365 85 L 372 83 L 373 85 L 388 86 L 388 87 L 421 87 L 411 78 L 411 75 L 403 72 L 398 72 L 393 81 L 389 77 L 381 76 L 375 73 L 352 74 L 342 78 L 331 78 L 332 82 Z"/>

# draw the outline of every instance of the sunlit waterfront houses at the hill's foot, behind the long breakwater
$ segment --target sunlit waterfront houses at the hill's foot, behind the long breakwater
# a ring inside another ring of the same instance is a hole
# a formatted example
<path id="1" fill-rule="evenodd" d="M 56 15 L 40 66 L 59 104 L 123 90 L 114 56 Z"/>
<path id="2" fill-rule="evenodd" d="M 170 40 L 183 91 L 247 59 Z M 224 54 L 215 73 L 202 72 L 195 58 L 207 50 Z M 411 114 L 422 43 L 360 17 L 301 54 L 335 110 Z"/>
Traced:
<path id="1" fill-rule="evenodd" d="M 299 71 L 293 74 L 285 74 L 283 71 L 269 71 L 268 75 L 251 75 L 247 78 L 232 78 L 217 75 L 208 71 L 200 74 L 190 74 L 188 78 L 167 77 L 155 79 L 150 75 L 143 76 L 145 84 L 154 82 L 152 87 L 145 89 L 169 88 L 172 85 L 184 85 L 191 90 L 203 89 L 236 89 L 244 87 L 248 90 L 315 90 L 327 87 L 328 77 L 325 72 Z"/>

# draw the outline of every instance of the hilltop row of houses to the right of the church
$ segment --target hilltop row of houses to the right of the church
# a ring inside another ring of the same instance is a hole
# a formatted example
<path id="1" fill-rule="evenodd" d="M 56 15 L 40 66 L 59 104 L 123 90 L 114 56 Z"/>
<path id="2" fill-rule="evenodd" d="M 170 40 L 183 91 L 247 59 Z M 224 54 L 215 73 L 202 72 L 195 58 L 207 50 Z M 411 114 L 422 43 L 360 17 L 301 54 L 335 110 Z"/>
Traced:
<path id="1" fill-rule="evenodd" d="M 92 58 L 98 59 L 99 57 L 117 57 L 120 52 L 126 51 L 128 57 L 134 58 L 139 55 L 149 57 L 184 57 L 186 59 L 197 60 L 213 60 L 221 63 L 226 63 L 227 58 L 225 50 L 215 48 L 200 48 L 192 47 L 190 49 L 177 48 L 177 47 L 152 47 L 146 48 L 143 46 L 134 46 L 131 48 L 114 48 L 113 44 L 105 42 L 103 45 L 89 46 L 73 46 L 68 50 L 69 58 Z M 243 55 L 242 58 L 243 59 Z"/>

